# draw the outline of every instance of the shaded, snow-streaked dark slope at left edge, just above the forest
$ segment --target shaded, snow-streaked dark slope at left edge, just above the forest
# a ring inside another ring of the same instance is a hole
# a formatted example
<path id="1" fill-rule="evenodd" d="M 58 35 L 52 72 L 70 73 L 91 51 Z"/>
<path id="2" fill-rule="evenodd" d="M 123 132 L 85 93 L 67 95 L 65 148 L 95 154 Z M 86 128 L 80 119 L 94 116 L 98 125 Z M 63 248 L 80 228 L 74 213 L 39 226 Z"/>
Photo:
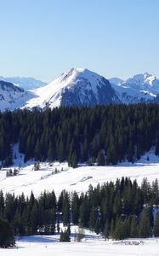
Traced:
<path id="1" fill-rule="evenodd" d="M 32 93 L 14 84 L 0 81 L 0 110 L 14 110 L 24 106 L 26 101 L 32 97 Z"/>

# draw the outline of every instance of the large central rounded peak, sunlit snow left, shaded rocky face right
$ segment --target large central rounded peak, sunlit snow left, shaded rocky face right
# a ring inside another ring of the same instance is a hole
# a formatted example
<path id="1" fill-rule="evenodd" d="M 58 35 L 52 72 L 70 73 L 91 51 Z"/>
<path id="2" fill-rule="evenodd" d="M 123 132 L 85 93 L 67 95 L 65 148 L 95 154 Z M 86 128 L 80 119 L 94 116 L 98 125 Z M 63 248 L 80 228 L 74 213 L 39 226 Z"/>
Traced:
<path id="1" fill-rule="evenodd" d="M 32 92 L 37 98 L 28 101 L 26 108 L 94 107 L 120 102 L 107 79 L 84 68 L 71 68 L 52 83 Z"/>

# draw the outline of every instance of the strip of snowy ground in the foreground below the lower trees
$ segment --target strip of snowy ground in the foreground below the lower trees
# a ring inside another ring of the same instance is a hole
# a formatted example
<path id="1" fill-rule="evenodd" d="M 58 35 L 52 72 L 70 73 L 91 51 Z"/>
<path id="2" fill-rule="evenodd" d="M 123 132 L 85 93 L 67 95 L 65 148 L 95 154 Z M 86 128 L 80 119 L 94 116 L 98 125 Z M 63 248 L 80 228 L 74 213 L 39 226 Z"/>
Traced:
<path id="1" fill-rule="evenodd" d="M 59 236 L 30 236 L 16 242 L 15 248 L 0 249 L 3 256 L 158 256 L 159 240 L 142 239 L 104 241 L 101 237 L 86 232 L 82 242 L 58 242 Z"/>

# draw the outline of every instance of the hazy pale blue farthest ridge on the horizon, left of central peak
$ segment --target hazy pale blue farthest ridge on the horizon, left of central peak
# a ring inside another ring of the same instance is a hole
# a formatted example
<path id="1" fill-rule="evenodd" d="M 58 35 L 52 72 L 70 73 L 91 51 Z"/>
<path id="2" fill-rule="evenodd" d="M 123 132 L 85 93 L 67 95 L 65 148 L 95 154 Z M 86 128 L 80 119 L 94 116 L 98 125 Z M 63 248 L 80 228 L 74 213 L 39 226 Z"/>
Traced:
<path id="1" fill-rule="evenodd" d="M 37 89 L 47 84 L 47 83 L 44 83 L 43 81 L 40 81 L 34 78 L 26 78 L 26 77 L 5 78 L 3 76 L 0 76 L 0 80 L 12 83 L 14 85 L 18 85 L 25 90 Z"/>

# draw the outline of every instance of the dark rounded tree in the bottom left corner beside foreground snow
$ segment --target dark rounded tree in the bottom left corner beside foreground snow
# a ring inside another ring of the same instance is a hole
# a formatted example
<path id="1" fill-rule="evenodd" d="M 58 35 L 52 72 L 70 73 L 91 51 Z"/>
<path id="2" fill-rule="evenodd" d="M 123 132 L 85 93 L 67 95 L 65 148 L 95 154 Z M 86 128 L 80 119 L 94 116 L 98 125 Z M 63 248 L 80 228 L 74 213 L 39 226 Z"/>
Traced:
<path id="1" fill-rule="evenodd" d="M 0 218 L 0 247 L 14 247 L 14 233 L 9 222 Z"/>

